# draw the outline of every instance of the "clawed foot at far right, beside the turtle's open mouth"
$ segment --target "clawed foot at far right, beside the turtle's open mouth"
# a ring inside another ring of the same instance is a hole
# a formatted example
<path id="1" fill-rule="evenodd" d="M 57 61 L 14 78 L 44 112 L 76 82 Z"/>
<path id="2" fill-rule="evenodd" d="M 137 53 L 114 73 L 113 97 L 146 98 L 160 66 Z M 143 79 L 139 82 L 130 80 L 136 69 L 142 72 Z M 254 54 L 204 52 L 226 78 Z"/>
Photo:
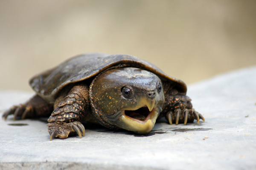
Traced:
<path id="1" fill-rule="evenodd" d="M 166 119 L 170 124 L 174 121 L 176 125 L 179 123 L 186 125 L 188 121 L 193 122 L 196 119 L 199 124 L 200 119 L 204 121 L 204 116 L 195 111 L 195 109 L 175 109 L 174 112 L 168 112 L 166 114 Z"/>

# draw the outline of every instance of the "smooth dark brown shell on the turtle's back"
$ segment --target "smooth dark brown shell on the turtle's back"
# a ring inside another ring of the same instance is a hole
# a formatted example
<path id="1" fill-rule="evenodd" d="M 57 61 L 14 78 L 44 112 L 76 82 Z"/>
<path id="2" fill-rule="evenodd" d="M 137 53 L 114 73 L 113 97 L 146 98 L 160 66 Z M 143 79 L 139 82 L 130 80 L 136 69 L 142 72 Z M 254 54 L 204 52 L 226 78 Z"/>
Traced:
<path id="1" fill-rule="evenodd" d="M 68 84 L 84 81 L 108 68 L 123 64 L 153 72 L 160 79 L 174 84 L 180 92 L 186 93 L 187 87 L 183 81 L 166 75 L 161 69 L 148 61 L 123 54 L 90 53 L 78 55 L 36 75 L 29 81 L 29 84 L 42 98 L 54 102 L 58 92 Z"/>

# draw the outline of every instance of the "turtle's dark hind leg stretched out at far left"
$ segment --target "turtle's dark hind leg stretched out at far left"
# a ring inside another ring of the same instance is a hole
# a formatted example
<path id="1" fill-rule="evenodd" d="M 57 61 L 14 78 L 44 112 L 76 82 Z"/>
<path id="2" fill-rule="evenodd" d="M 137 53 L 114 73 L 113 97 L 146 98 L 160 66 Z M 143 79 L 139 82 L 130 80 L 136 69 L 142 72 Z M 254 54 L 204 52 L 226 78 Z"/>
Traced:
<path id="1" fill-rule="evenodd" d="M 46 117 L 53 111 L 53 105 L 49 104 L 39 95 L 35 95 L 25 104 L 13 106 L 9 110 L 3 113 L 3 118 L 6 119 L 9 115 L 14 115 L 13 120 L 17 118 L 38 118 Z"/>

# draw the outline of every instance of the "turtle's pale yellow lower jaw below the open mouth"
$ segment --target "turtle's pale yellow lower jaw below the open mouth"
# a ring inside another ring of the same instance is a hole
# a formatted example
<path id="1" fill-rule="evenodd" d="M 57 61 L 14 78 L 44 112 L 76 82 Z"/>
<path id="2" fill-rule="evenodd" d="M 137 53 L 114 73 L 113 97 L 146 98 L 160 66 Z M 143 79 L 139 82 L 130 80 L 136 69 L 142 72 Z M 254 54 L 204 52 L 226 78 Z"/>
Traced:
<path id="1" fill-rule="evenodd" d="M 146 134 L 153 129 L 159 113 L 160 108 L 153 108 L 147 118 L 144 121 L 140 121 L 125 115 L 125 111 L 123 111 L 123 114 L 112 123 L 125 130 L 130 130 L 138 134 Z"/>

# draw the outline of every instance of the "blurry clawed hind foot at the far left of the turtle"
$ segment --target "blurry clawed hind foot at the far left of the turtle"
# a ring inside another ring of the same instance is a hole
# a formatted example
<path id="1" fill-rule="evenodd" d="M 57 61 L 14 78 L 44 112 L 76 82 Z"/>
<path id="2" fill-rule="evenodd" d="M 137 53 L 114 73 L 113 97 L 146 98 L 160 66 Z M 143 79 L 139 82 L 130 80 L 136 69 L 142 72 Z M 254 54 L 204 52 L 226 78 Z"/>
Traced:
<path id="1" fill-rule="evenodd" d="M 21 119 L 26 118 L 26 115 L 32 113 L 33 108 L 29 104 L 20 104 L 19 106 L 13 106 L 6 112 L 4 112 L 2 118 L 6 120 L 9 115 L 14 115 L 13 120 L 17 119 L 17 116 L 21 116 Z"/>

